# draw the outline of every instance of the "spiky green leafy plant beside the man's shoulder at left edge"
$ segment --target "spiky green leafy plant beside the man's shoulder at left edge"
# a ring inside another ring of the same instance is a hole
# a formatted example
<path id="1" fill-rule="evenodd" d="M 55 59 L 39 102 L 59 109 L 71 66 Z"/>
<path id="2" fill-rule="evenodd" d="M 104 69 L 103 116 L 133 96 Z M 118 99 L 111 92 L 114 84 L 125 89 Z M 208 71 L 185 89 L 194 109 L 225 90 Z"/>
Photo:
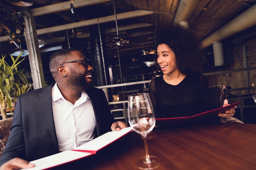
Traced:
<path id="1" fill-rule="evenodd" d="M 5 60 L 6 55 L 2 55 L 0 59 L 0 111 L 3 119 L 7 118 L 6 109 L 10 109 L 12 113 L 12 104 L 15 107 L 18 96 L 33 89 L 29 83 L 31 73 L 19 68 L 25 59 L 19 60 L 21 54 L 16 59 L 10 55 L 12 65 Z"/>

